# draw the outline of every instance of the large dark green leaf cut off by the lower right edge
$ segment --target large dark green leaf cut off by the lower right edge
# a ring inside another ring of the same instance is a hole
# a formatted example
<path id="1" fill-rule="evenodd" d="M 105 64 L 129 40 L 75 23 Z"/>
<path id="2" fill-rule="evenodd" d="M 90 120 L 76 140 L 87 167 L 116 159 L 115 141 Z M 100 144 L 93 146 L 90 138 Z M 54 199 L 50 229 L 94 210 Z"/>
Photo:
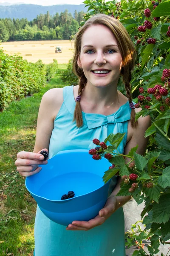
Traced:
<path id="1" fill-rule="evenodd" d="M 170 218 L 170 195 L 162 195 L 159 204 L 153 204 L 153 221 L 166 223 Z"/>

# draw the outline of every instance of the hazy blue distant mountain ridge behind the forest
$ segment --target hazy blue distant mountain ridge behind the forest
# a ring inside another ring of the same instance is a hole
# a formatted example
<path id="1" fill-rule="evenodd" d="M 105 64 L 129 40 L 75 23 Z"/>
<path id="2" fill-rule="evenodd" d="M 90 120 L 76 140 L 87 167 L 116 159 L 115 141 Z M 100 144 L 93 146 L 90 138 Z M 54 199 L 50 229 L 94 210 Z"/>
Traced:
<path id="1" fill-rule="evenodd" d="M 2 3 L 1 3 L 2 4 Z M 6 3 L 7 4 L 7 3 Z M 19 5 L 10 5 L 10 6 L 0 6 L 0 18 L 15 18 L 22 19 L 27 18 L 28 20 L 33 20 L 37 15 L 46 14 L 49 11 L 50 15 L 55 15 L 57 12 L 64 12 L 65 10 L 71 12 L 74 15 L 75 10 L 77 12 L 87 12 L 88 7 L 85 7 L 85 4 L 80 5 L 54 5 L 54 6 L 40 6 L 34 4 L 19 4 Z"/>

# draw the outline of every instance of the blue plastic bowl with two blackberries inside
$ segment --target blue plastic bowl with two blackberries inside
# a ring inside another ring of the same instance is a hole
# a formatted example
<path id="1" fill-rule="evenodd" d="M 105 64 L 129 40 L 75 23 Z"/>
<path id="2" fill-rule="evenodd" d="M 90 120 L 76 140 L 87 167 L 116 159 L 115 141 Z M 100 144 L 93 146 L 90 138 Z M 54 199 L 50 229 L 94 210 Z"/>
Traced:
<path id="1" fill-rule="evenodd" d="M 26 188 L 42 212 L 52 221 L 68 226 L 98 215 L 108 198 L 110 181 L 102 177 L 111 163 L 104 157 L 94 160 L 88 150 L 60 151 L 41 165 L 41 172 L 26 178 Z M 74 198 L 61 200 L 73 190 Z"/>

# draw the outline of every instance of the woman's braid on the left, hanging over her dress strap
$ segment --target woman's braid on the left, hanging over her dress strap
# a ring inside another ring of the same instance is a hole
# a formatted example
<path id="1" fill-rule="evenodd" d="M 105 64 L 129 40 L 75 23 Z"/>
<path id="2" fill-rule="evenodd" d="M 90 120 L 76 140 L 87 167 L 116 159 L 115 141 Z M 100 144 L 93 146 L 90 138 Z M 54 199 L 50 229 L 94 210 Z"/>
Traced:
<path id="1" fill-rule="evenodd" d="M 79 79 L 79 90 L 78 90 L 78 95 L 81 96 L 82 95 L 82 90 L 85 87 L 85 84 L 87 83 L 87 79 L 83 73 L 83 75 L 80 77 Z M 74 121 L 76 120 L 77 123 L 77 127 L 81 127 L 83 124 L 83 120 L 82 120 L 82 109 L 80 106 L 80 102 L 77 101 L 76 102 L 76 107 L 74 110 Z"/>

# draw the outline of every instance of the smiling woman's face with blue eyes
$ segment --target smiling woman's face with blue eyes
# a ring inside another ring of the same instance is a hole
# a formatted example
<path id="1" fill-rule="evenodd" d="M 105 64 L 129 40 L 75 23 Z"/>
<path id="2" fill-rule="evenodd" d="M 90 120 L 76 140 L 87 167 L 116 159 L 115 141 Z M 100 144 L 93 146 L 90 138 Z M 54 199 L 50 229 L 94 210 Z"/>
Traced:
<path id="1" fill-rule="evenodd" d="M 93 25 L 85 30 L 77 64 L 83 69 L 88 84 L 95 87 L 117 86 L 122 56 L 108 27 Z"/>

